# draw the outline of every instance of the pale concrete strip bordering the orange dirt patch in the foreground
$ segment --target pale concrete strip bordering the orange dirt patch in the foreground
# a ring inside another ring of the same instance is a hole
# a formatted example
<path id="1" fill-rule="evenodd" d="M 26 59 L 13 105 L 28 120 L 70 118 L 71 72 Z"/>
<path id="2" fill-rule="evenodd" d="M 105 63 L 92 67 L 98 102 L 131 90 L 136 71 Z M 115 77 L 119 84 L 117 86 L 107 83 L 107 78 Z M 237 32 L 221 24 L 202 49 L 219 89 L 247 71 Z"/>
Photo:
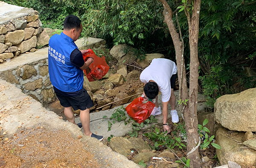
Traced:
<path id="1" fill-rule="evenodd" d="M 82 136 L 81 141 L 86 144 L 85 150 L 94 154 L 94 157 L 102 168 L 139 168 L 139 166 L 129 161 L 102 142 L 89 136 L 84 136 L 79 127 L 70 122 L 59 119 L 59 116 L 52 111 L 45 109 L 38 101 L 31 99 L 31 103 L 23 103 L 20 109 L 15 108 L 17 102 L 26 100 L 27 95 L 23 94 L 15 85 L 0 79 L 0 88 L 9 87 L 7 90 L 0 92 L 0 108 L 2 133 L 6 130 L 7 137 L 12 137 L 14 133 L 19 131 L 18 126 L 23 122 L 22 128 L 36 127 L 42 125 L 45 129 L 68 130 L 74 138 Z M 6 110 L 5 110 L 6 109 Z M 6 115 L 8 114 L 8 115 Z M 93 125 L 93 123 L 92 123 Z M 103 159 L 101 159 L 103 158 Z M 105 162 L 106 159 L 111 159 Z"/>

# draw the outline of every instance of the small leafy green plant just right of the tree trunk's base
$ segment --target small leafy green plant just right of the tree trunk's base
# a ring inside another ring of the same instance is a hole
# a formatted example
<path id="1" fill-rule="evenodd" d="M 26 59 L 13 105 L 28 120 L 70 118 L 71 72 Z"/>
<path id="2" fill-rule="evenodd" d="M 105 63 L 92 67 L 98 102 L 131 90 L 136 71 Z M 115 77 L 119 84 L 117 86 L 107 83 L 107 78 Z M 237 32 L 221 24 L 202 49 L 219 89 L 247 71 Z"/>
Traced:
<path id="1" fill-rule="evenodd" d="M 201 143 L 201 145 L 200 145 L 201 149 L 206 149 L 210 144 L 216 149 L 221 149 L 220 145 L 212 142 L 214 135 L 211 137 L 208 136 L 207 132 L 210 133 L 210 131 L 207 127 L 204 127 L 205 125 L 207 125 L 207 123 L 208 123 L 208 119 L 205 119 L 203 122 L 203 125 L 198 124 L 199 136 L 200 136 L 200 138 L 202 138 L 202 137 L 205 138 L 204 142 Z M 203 134 L 203 131 L 205 132 L 205 135 Z"/>

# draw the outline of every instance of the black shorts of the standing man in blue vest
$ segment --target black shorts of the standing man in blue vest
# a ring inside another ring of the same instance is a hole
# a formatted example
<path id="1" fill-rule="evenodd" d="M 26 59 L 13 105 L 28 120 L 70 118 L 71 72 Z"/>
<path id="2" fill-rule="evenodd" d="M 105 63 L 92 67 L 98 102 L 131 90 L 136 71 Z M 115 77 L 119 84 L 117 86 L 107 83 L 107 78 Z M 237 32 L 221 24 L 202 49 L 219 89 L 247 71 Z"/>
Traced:
<path id="1" fill-rule="evenodd" d="M 55 93 L 63 107 L 72 106 L 74 110 L 86 110 L 94 106 L 93 101 L 85 89 L 78 96 L 63 96 L 60 93 Z"/>

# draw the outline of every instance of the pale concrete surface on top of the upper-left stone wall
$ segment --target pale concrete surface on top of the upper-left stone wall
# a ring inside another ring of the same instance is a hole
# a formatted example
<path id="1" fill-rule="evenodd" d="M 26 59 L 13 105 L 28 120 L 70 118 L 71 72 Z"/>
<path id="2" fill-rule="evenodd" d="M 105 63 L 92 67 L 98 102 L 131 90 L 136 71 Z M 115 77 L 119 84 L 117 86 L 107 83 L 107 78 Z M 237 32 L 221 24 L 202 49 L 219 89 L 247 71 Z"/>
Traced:
<path id="1" fill-rule="evenodd" d="M 24 8 L 21 6 L 10 5 L 0 1 L 0 25 L 8 23 L 12 19 L 27 16 L 34 13 L 32 8 Z"/>

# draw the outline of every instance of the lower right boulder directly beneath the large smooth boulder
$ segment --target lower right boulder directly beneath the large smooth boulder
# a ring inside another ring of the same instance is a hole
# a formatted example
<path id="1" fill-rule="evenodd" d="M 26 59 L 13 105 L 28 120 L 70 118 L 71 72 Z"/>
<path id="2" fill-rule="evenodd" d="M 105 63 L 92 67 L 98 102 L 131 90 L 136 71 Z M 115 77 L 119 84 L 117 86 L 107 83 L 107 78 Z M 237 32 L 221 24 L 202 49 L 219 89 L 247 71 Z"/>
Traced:
<path id="1" fill-rule="evenodd" d="M 227 164 L 228 161 L 236 162 L 244 167 L 249 165 L 256 165 L 256 152 L 254 150 L 245 150 L 241 148 L 241 145 L 237 145 L 239 142 L 242 142 L 244 133 L 237 132 L 236 135 L 232 135 L 229 133 L 229 131 L 230 130 L 221 127 L 217 130 L 215 136 L 215 143 L 221 146 L 221 149 L 216 149 L 216 154 L 221 165 Z M 225 136 L 228 136 L 239 142 L 236 142 Z"/>

